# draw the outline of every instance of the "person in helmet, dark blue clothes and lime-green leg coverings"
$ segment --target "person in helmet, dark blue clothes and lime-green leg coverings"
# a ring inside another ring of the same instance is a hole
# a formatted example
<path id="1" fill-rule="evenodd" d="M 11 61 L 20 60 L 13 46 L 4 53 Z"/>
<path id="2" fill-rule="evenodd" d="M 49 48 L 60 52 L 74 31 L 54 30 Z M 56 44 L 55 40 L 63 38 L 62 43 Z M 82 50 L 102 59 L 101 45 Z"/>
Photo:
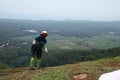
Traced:
<path id="1" fill-rule="evenodd" d="M 45 44 L 47 43 L 46 37 L 48 36 L 47 31 L 42 31 L 39 36 L 33 40 L 33 44 L 31 46 L 31 53 L 32 57 L 30 60 L 30 70 L 35 70 L 35 58 L 37 58 L 37 69 L 40 68 L 40 59 L 42 56 L 42 52 L 44 51 L 46 54 L 48 54 L 48 50 L 45 47 Z"/>

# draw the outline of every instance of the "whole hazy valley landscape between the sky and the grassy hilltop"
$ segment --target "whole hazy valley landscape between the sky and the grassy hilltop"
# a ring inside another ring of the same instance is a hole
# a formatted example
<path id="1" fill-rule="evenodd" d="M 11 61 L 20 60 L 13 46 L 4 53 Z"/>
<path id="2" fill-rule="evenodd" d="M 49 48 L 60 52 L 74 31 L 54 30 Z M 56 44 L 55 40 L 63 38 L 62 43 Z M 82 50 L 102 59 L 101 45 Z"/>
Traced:
<path id="1" fill-rule="evenodd" d="M 47 30 L 48 55 L 42 66 L 56 66 L 96 60 L 109 49 L 120 46 L 120 23 L 94 21 L 0 20 L 0 62 L 10 67 L 29 66 L 31 42 L 39 31 Z M 36 30 L 31 33 L 24 30 Z M 119 50 L 119 48 L 118 48 Z M 113 52 L 119 55 L 119 52 Z M 112 53 L 110 53 L 113 57 Z"/>

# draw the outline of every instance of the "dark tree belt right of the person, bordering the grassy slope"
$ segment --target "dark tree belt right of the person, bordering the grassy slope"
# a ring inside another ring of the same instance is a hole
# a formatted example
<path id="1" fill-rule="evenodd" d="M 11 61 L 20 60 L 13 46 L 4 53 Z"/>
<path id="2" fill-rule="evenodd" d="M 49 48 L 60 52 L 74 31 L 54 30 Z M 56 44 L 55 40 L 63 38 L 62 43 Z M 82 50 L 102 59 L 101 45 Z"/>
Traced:
<path id="1" fill-rule="evenodd" d="M 57 54 L 43 56 L 41 62 L 42 67 L 64 65 L 81 61 L 93 61 L 97 59 L 120 56 L 120 47 L 111 48 L 108 50 L 60 50 L 55 52 Z"/>

